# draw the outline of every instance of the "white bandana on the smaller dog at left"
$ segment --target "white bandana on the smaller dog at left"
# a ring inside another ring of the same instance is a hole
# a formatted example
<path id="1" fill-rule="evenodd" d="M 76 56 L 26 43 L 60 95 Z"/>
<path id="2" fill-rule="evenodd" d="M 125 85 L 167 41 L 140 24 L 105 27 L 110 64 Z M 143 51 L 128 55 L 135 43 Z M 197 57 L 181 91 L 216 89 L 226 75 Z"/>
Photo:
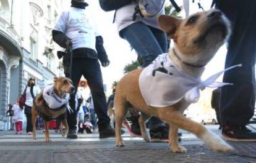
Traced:
<path id="1" fill-rule="evenodd" d="M 53 91 L 54 85 L 48 85 L 43 89 L 43 98 L 51 109 L 58 109 L 64 104 L 67 104 L 67 109 L 70 111 L 69 93 L 65 93 L 63 98 L 59 98 L 58 95 Z"/>

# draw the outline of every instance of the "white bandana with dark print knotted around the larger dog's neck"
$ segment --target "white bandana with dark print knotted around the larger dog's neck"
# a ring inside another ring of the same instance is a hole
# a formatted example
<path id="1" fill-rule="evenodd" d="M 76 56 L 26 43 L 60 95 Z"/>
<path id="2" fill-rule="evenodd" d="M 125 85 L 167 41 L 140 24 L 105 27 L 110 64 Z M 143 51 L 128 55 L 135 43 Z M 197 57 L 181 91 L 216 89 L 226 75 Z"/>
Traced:
<path id="1" fill-rule="evenodd" d="M 215 80 L 227 70 L 213 74 L 205 81 L 194 78 L 182 70 L 178 70 L 171 62 L 168 54 L 159 55 L 156 60 L 148 65 L 140 74 L 139 87 L 142 96 L 148 106 L 171 106 L 184 98 L 188 103 L 195 103 L 200 97 L 200 90 L 205 87 L 222 87 L 231 85 Z"/>

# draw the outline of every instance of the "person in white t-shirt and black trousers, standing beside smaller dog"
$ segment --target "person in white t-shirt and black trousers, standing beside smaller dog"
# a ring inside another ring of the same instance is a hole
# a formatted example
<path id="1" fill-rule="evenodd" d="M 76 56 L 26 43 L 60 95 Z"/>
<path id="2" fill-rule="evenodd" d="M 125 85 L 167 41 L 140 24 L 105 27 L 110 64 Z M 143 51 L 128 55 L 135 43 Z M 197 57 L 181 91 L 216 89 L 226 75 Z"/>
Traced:
<path id="1" fill-rule="evenodd" d="M 72 74 L 71 80 L 76 90 L 82 75 L 87 79 L 99 118 L 100 138 L 114 137 L 114 129 L 109 126 L 110 119 L 107 114 L 106 96 L 98 62 L 100 60 L 101 65 L 105 67 L 109 65 L 109 60 L 103 47 L 103 38 L 96 28 L 96 23 L 93 22 L 93 15 L 85 9 L 87 6 L 84 0 L 72 0 L 70 9 L 62 12 L 56 23 L 52 32 L 53 40 L 63 48 L 67 48 L 67 45 L 72 46 L 73 64 L 71 71 L 66 71 L 66 77 Z M 67 113 L 69 124 L 67 138 L 77 138 L 75 94 L 70 96 L 70 107 L 73 112 Z"/>

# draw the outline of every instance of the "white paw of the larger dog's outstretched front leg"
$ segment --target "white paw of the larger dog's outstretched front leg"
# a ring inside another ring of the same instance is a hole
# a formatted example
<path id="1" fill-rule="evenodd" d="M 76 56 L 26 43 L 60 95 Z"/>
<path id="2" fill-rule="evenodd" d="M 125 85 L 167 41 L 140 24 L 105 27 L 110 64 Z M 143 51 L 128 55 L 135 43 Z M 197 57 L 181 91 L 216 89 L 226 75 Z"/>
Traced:
<path id="1" fill-rule="evenodd" d="M 218 137 L 218 135 L 215 135 L 215 133 L 212 133 L 210 131 L 207 131 L 203 135 L 202 139 L 203 141 L 205 141 L 205 144 L 207 144 L 214 151 L 218 151 L 221 153 L 229 153 L 234 151 L 233 146 L 229 145 L 221 137 Z"/>

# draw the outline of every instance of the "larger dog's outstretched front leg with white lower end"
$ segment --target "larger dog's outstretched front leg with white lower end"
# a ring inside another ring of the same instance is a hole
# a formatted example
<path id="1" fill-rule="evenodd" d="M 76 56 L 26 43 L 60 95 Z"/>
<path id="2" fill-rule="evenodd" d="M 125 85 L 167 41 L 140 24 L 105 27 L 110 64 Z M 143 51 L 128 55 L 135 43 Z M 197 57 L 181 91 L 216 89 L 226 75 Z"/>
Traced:
<path id="1" fill-rule="evenodd" d="M 215 133 L 203 127 L 203 125 L 198 124 L 195 121 L 184 117 L 181 113 L 177 111 L 173 111 L 171 108 L 159 108 L 160 119 L 168 122 L 169 124 L 176 125 L 177 127 L 187 130 L 189 132 L 197 135 L 198 138 L 201 138 L 206 145 L 208 145 L 211 149 L 223 153 L 228 153 L 229 151 L 233 151 L 233 147 L 228 145 L 223 139 L 218 137 Z"/>

